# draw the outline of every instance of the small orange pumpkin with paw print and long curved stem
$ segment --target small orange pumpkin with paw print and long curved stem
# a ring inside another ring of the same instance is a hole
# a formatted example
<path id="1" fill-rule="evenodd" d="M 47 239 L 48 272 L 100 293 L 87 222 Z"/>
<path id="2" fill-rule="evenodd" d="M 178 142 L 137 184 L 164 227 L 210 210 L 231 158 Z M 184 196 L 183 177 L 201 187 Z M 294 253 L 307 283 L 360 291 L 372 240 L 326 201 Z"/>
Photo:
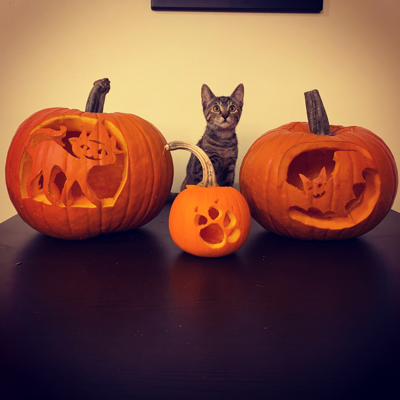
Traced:
<path id="1" fill-rule="evenodd" d="M 182 250 L 202 257 L 221 257 L 238 250 L 250 231 L 250 210 L 232 187 L 219 187 L 207 154 L 189 142 L 170 142 L 166 150 L 191 151 L 202 164 L 203 181 L 187 185 L 171 206 L 169 231 Z"/>

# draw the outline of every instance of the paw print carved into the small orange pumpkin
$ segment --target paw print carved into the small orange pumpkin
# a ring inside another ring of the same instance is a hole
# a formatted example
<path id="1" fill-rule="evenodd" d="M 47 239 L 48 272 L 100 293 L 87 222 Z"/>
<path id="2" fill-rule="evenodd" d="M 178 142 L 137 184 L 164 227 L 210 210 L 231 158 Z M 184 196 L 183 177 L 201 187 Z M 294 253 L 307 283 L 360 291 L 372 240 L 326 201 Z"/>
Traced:
<path id="1" fill-rule="evenodd" d="M 216 202 L 217 203 L 217 202 Z M 203 241 L 212 248 L 223 247 L 228 241 L 235 243 L 239 239 L 241 230 L 236 227 L 236 217 L 231 211 L 223 212 L 216 205 L 210 206 L 207 215 L 198 213 L 194 209 L 194 225 L 199 229 Z"/>

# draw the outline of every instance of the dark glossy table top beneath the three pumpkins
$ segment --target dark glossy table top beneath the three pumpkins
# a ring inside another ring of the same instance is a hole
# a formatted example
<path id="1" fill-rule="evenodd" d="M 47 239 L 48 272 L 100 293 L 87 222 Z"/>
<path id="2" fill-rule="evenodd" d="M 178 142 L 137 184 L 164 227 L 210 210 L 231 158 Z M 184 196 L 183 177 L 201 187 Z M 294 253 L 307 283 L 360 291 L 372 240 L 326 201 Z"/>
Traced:
<path id="1" fill-rule="evenodd" d="M 399 213 L 347 241 L 252 221 L 221 258 L 168 214 L 87 241 L 0 224 L 0 398 L 400 398 Z"/>

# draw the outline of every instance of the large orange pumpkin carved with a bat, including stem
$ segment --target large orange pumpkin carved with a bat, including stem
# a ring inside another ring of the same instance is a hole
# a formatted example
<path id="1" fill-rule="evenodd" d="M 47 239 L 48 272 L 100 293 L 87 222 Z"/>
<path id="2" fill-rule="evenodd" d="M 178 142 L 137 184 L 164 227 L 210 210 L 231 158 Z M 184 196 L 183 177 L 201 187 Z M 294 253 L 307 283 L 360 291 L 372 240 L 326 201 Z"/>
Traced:
<path id="1" fill-rule="evenodd" d="M 265 229 L 301 239 L 344 239 L 378 225 L 393 205 L 397 168 L 381 138 L 329 125 L 318 92 L 305 93 L 309 123 L 259 137 L 245 155 L 239 185 Z"/>

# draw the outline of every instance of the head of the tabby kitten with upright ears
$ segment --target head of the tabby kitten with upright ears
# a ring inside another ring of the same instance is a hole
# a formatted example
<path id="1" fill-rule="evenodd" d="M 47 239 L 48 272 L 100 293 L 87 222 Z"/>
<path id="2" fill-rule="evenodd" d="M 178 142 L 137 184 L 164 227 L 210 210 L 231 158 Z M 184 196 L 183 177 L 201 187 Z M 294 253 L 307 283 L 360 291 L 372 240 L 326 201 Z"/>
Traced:
<path id="1" fill-rule="evenodd" d="M 244 86 L 240 84 L 230 96 L 216 97 L 207 85 L 202 86 L 203 113 L 213 130 L 232 130 L 242 115 Z"/>

